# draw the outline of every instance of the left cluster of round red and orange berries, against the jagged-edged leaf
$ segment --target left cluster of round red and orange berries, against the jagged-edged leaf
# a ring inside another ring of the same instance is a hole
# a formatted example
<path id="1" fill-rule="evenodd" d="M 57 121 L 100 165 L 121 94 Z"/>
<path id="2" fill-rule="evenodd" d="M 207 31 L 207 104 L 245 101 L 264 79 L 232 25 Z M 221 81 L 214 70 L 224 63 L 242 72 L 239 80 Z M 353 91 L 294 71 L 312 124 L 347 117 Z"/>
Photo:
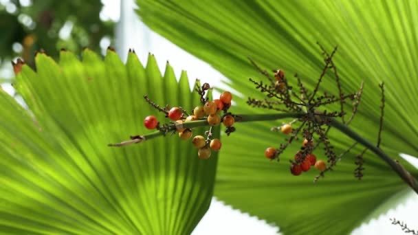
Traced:
<path id="1" fill-rule="evenodd" d="M 203 97 L 205 91 L 209 88 L 207 83 L 203 84 L 201 87 L 197 87 L 196 91 L 201 95 L 201 102 L 203 105 L 195 107 L 195 109 L 192 110 L 191 115 L 188 115 L 186 111 L 180 107 L 173 107 L 166 111 L 166 117 L 174 122 L 176 131 L 183 140 L 188 140 L 192 137 L 192 129 L 184 128 L 182 125 L 184 122 L 207 120 L 208 125 L 211 126 L 210 130 L 205 133 L 207 137 L 205 138 L 203 135 L 196 135 L 192 138 L 192 144 L 199 149 L 198 156 L 201 159 L 208 159 L 211 150 L 218 151 L 221 149 L 221 141 L 219 139 L 212 139 L 212 126 L 217 126 L 222 122 L 227 128 L 227 134 L 234 131 L 233 125 L 235 117 L 231 113 L 228 113 L 228 109 L 231 107 L 232 94 L 229 91 L 223 91 L 219 99 L 209 101 L 208 98 Z M 221 111 L 223 111 L 222 116 L 220 114 Z M 145 117 L 144 126 L 148 129 L 160 129 L 159 122 L 153 115 Z"/>

